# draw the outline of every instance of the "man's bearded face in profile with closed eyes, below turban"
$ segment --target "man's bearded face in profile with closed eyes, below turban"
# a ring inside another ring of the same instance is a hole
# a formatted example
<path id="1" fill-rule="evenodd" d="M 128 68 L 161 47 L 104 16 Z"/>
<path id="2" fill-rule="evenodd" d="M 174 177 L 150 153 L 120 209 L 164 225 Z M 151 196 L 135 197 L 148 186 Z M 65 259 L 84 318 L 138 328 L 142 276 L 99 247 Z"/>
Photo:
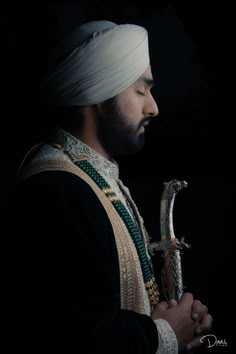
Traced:
<path id="1" fill-rule="evenodd" d="M 151 95 L 150 67 L 130 87 L 102 103 L 97 117 L 98 139 L 111 156 L 134 154 L 145 143 L 145 126 L 158 114 Z"/>

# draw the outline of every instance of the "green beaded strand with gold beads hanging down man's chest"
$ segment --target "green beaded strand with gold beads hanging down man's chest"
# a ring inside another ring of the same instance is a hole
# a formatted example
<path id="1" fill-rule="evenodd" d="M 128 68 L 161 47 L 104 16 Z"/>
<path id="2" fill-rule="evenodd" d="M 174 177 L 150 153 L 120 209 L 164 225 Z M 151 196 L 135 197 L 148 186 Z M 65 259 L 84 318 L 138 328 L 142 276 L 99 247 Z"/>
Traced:
<path id="1" fill-rule="evenodd" d="M 77 160 L 74 161 L 74 163 L 80 167 L 90 178 L 92 178 L 97 186 L 105 193 L 121 219 L 124 221 L 138 253 L 149 301 L 152 305 L 157 304 L 160 296 L 157 283 L 154 277 L 152 264 L 147 257 L 145 245 L 137 225 L 132 220 L 129 212 L 121 202 L 120 198 L 112 191 L 111 187 L 104 180 L 101 174 L 97 172 L 97 170 L 87 160 Z"/>

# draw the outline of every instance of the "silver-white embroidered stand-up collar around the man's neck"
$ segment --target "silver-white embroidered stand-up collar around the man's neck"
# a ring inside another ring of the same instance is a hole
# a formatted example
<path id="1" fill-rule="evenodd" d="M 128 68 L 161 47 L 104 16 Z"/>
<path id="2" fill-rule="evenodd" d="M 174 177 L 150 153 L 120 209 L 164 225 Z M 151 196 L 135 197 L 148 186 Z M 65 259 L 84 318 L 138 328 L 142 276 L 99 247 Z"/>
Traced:
<path id="1" fill-rule="evenodd" d="M 64 129 L 58 129 L 53 139 L 57 144 L 64 146 L 78 161 L 87 160 L 104 177 L 115 179 L 116 181 L 119 179 L 119 166 L 115 160 L 110 161 L 101 156 Z"/>

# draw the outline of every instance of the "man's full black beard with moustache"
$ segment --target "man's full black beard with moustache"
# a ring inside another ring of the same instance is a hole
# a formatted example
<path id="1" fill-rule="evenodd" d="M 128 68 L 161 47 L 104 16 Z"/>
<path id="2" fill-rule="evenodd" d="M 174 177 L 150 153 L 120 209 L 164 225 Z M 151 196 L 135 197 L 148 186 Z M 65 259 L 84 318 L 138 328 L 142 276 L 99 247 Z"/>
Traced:
<path id="1" fill-rule="evenodd" d="M 116 99 L 111 98 L 103 103 L 97 118 L 98 139 L 110 156 L 135 154 L 145 143 L 144 133 L 138 131 L 150 119 L 142 118 L 138 127 L 134 128 L 131 119 L 119 111 Z"/>

